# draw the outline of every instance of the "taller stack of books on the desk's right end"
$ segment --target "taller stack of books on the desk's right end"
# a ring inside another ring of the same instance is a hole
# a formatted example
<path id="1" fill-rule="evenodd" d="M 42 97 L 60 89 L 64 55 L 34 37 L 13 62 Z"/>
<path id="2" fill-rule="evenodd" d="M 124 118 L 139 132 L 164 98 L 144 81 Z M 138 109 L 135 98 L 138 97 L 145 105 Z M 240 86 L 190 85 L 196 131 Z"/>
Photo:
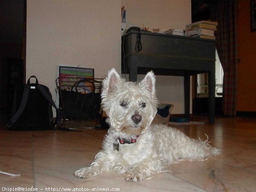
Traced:
<path id="1" fill-rule="evenodd" d="M 214 32 L 217 31 L 218 22 L 198 21 L 186 25 L 185 36 L 215 39 Z"/>

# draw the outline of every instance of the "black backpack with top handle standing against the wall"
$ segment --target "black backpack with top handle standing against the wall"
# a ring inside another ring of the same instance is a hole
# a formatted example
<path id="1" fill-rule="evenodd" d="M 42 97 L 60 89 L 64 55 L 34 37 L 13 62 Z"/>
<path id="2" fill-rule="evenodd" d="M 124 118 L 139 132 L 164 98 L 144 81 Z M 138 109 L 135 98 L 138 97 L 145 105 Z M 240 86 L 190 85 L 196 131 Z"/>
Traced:
<path id="1" fill-rule="evenodd" d="M 30 79 L 35 78 L 35 83 Z M 52 106 L 56 109 L 53 119 Z M 61 124 L 61 110 L 56 108 L 49 88 L 38 84 L 38 79 L 31 76 L 27 84 L 15 87 L 12 106 L 12 118 L 7 127 L 12 130 L 56 129 Z"/>

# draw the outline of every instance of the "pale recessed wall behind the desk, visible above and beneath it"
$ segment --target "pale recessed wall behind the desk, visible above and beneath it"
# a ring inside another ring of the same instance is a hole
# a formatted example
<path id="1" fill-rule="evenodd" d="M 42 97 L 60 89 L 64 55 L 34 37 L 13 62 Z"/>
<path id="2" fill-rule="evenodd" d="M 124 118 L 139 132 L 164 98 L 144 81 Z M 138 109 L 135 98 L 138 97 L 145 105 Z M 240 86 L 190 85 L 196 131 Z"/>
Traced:
<path id="1" fill-rule="evenodd" d="M 144 24 L 149 30 L 166 31 L 185 29 L 186 24 L 191 23 L 191 0 L 121 0 L 121 6 L 125 6 L 127 27 Z M 173 104 L 174 114 L 184 113 L 183 77 L 157 76 L 156 79 L 160 103 Z"/>

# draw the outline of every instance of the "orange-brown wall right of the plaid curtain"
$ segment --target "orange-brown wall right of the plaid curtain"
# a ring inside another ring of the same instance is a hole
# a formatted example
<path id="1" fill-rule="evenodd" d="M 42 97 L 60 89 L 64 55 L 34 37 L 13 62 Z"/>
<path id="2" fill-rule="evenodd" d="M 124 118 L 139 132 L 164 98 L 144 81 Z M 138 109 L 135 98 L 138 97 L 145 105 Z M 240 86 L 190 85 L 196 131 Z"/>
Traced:
<path id="1" fill-rule="evenodd" d="M 251 32 L 250 1 L 238 3 L 237 111 L 256 112 L 256 32 Z"/>

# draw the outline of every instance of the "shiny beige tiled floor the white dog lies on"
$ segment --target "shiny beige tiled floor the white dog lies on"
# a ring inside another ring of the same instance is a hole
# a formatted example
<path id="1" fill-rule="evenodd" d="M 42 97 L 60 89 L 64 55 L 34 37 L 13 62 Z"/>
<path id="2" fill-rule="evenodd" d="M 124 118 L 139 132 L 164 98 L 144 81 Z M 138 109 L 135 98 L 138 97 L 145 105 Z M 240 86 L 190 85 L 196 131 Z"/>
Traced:
<path id="1" fill-rule="evenodd" d="M 125 181 L 115 172 L 92 179 L 73 175 L 93 160 L 101 148 L 104 130 L 8 131 L 1 124 L 0 171 L 20 176 L 0 174 L 0 191 L 8 187 L 34 187 L 42 192 L 65 188 L 119 188 L 121 192 L 256 191 L 256 119 L 216 118 L 213 125 L 206 122 L 177 126 L 189 137 L 206 138 L 207 134 L 211 145 L 221 148 L 222 154 L 206 161 L 173 164 L 169 172 L 137 183 Z"/>

